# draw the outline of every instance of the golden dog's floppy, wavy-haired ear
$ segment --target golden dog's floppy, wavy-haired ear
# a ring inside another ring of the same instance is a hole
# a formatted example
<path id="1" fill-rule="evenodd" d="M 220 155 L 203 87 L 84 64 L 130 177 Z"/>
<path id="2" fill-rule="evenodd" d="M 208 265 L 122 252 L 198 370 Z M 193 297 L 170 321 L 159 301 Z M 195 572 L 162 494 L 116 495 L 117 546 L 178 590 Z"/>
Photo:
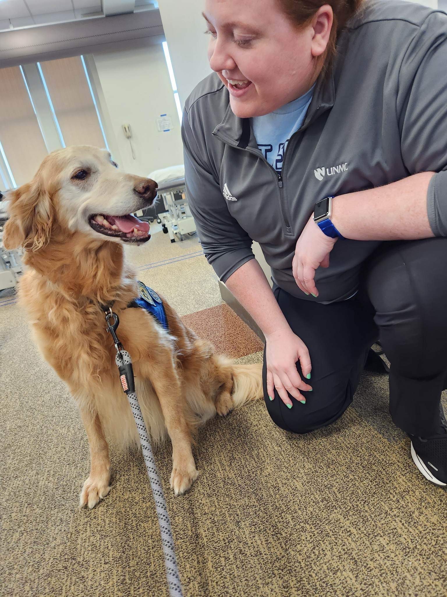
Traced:
<path id="1" fill-rule="evenodd" d="M 5 224 L 3 244 L 7 249 L 23 247 L 38 251 L 48 244 L 54 208 L 38 180 L 23 184 L 8 195 L 10 217 Z"/>

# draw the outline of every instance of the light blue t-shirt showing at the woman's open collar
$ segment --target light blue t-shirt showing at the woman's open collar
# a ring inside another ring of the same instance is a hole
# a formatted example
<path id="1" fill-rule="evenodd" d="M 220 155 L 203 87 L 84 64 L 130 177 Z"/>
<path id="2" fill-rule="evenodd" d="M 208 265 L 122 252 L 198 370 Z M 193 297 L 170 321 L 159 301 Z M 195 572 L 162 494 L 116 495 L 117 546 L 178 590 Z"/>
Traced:
<path id="1" fill-rule="evenodd" d="M 308 93 L 281 106 L 275 112 L 252 118 L 257 147 L 277 172 L 281 172 L 283 167 L 288 140 L 303 124 L 314 87 L 315 85 Z"/>

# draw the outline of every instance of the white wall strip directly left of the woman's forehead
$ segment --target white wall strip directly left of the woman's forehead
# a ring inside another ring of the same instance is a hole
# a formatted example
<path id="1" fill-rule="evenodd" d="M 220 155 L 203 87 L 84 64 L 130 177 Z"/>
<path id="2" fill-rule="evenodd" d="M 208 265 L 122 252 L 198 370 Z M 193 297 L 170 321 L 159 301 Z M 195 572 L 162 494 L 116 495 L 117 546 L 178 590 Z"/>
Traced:
<path id="1" fill-rule="evenodd" d="M 208 63 L 209 37 L 201 16 L 204 0 L 159 0 L 169 54 L 182 107 L 195 85 L 212 70 Z"/>

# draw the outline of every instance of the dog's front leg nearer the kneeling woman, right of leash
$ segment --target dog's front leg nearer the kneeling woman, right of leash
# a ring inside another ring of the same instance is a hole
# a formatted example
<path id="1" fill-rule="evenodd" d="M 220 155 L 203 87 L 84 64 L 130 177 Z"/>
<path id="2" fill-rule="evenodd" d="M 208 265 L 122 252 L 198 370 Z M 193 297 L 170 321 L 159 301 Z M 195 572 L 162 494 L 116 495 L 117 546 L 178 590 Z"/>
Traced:
<path id="1" fill-rule="evenodd" d="M 176 496 L 185 493 L 195 479 L 198 470 L 195 468 L 191 430 L 188 426 L 184 402 L 182 401 L 181 383 L 174 364 L 166 355 L 162 367 L 157 367 L 157 374 L 151 368 L 150 380 L 157 393 L 162 407 L 164 424 L 172 442 L 172 475 L 170 486 Z"/>

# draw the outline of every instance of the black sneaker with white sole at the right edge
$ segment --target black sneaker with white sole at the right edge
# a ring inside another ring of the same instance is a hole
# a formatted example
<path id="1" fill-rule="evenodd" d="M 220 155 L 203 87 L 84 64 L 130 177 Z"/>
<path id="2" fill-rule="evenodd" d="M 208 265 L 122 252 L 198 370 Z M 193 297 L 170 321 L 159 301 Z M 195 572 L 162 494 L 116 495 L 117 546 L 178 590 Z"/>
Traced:
<path id="1" fill-rule="evenodd" d="M 423 439 L 411 436 L 411 457 L 426 479 L 447 485 L 447 435 Z"/>

